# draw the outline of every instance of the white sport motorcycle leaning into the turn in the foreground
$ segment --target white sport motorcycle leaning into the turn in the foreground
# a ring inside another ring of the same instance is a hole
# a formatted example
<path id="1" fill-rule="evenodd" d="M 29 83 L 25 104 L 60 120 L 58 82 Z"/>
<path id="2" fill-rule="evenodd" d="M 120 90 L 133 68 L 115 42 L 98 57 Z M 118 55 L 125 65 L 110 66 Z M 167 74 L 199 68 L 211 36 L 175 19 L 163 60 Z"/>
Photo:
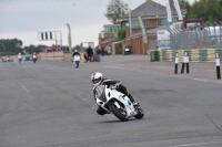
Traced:
<path id="1" fill-rule="evenodd" d="M 115 90 L 115 86 L 99 85 L 94 87 L 95 103 L 107 114 L 113 114 L 122 122 L 129 120 L 131 117 L 140 119 L 144 116 L 141 106 L 133 106 L 130 98 Z"/>

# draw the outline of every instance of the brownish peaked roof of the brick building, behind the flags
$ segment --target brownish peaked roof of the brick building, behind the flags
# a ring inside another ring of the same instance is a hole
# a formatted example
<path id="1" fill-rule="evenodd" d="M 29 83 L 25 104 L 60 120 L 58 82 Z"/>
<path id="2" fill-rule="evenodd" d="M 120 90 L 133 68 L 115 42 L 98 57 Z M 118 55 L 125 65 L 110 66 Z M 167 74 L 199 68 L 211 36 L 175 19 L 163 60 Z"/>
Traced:
<path id="1" fill-rule="evenodd" d="M 182 13 L 185 12 L 185 10 L 181 10 Z M 172 15 L 178 15 L 175 10 L 171 10 Z M 167 8 L 160 3 L 157 3 L 152 0 L 147 0 L 144 3 L 135 8 L 131 11 L 131 17 L 157 17 L 157 15 L 168 15 L 167 14 Z M 128 14 L 123 18 L 128 18 Z"/>

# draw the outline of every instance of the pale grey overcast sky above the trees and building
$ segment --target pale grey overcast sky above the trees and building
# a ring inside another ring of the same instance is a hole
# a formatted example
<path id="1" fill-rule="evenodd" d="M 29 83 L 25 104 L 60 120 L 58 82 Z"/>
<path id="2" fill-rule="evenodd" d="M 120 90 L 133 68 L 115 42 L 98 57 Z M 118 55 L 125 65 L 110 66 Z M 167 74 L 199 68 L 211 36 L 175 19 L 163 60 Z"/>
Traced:
<path id="1" fill-rule="evenodd" d="M 110 0 L 0 0 L 0 39 L 20 39 L 24 45 L 54 44 L 39 41 L 38 32 L 61 31 L 62 44 L 68 45 L 71 27 L 72 45 L 95 42 L 110 22 L 104 17 Z M 131 9 L 145 0 L 123 0 Z M 165 0 L 153 0 L 165 6 Z M 193 2 L 194 0 L 189 0 Z"/>

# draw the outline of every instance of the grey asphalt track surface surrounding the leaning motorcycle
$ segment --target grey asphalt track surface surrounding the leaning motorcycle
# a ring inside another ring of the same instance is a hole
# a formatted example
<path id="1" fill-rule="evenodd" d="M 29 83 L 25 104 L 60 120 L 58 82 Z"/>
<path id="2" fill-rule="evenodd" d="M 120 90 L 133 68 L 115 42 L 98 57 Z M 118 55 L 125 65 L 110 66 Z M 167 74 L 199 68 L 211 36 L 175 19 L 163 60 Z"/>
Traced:
<path id="1" fill-rule="evenodd" d="M 190 74 L 174 75 L 173 67 L 143 55 L 104 56 L 80 69 L 59 61 L 1 63 L 0 147 L 222 147 L 215 63 L 192 63 Z M 144 118 L 97 115 L 95 71 L 120 80 Z"/>

